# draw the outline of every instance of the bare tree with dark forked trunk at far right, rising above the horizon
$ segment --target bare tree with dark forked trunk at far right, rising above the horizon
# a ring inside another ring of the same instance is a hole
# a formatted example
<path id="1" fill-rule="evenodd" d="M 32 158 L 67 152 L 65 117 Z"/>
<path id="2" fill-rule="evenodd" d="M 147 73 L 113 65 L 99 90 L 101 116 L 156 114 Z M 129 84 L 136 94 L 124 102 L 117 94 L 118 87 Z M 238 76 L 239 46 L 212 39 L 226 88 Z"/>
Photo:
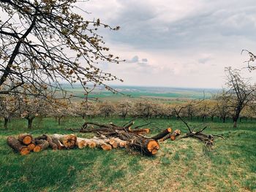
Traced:
<path id="1" fill-rule="evenodd" d="M 227 72 L 227 93 L 230 94 L 231 107 L 233 107 L 233 127 L 236 128 L 237 120 L 244 107 L 252 101 L 256 86 L 251 85 L 249 80 L 241 77 L 236 69 L 226 68 Z"/>

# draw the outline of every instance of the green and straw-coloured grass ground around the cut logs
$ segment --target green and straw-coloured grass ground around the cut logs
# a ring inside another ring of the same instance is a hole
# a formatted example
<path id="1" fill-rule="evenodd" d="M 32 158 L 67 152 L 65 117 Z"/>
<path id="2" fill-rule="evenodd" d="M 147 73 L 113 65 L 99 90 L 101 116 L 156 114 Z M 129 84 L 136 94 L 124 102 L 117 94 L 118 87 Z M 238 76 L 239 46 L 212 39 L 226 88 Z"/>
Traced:
<path id="1" fill-rule="evenodd" d="M 127 122 L 119 118 L 91 120 Z M 152 134 L 168 126 L 186 131 L 178 120 L 150 121 Z M 136 120 L 136 124 L 145 122 Z M 53 118 L 37 118 L 32 134 L 69 133 L 65 128 L 78 128 L 82 123 L 80 118 L 66 118 L 58 126 Z M 240 123 L 233 129 L 232 123 L 206 122 L 206 133 L 225 137 L 216 139 L 211 151 L 195 139 L 180 139 L 161 143 L 154 157 L 96 148 L 20 156 L 7 146 L 7 136 L 29 130 L 25 120 L 12 120 L 7 130 L 0 127 L 0 191 L 256 191 L 255 123 Z M 205 125 L 196 120 L 190 124 Z"/>

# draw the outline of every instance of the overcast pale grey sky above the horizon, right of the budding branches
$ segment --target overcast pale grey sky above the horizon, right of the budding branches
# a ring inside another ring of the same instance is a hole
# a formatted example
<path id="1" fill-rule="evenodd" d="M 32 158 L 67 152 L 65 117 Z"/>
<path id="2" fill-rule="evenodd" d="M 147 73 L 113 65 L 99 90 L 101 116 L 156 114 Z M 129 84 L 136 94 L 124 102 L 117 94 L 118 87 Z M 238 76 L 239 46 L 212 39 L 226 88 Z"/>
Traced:
<path id="1" fill-rule="evenodd" d="M 255 0 L 90 0 L 85 18 L 120 26 L 101 30 L 110 53 L 125 62 L 99 64 L 124 82 L 184 88 L 222 88 L 225 66 L 242 69 L 256 52 Z M 79 12 L 79 10 L 78 10 Z M 241 71 L 243 77 L 256 72 Z"/>

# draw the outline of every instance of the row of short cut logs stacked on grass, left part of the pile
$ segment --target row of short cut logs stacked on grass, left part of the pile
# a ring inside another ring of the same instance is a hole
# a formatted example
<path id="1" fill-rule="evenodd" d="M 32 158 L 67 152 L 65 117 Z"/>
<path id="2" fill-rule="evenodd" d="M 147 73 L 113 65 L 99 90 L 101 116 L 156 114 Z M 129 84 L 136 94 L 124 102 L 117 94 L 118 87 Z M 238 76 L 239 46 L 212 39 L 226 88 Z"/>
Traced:
<path id="1" fill-rule="evenodd" d="M 127 142 L 121 139 L 104 135 L 101 137 L 93 137 L 91 139 L 76 137 L 75 134 L 43 134 L 39 137 L 32 137 L 31 134 L 20 134 L 18 138 L 8 137 L 7 144 L 12 147 L 20 155 L 27 155 L 30 152 L 39 152 L 49 147 L 52 150 L 72 149 L 78 147 L 99 147 L 102 150 L 111 150 L 117 147 L 126 147 Z"/>

